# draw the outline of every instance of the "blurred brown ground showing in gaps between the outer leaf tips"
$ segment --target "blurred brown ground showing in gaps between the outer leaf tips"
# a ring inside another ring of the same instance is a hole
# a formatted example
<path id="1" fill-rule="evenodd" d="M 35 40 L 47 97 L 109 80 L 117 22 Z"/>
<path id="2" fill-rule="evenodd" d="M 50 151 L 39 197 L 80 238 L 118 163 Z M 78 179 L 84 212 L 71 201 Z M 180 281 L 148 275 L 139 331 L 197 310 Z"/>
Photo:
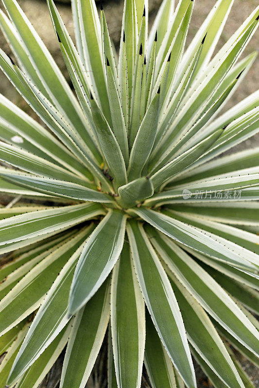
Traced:
<path id="1" fill-rule="evenodd" d="M 213 7 L 216 0 L 195 0 L 194 12 L 192 16 L 192 21 L 190 25 L 190 33 L 187 40 L 187 43 L 190 42 L 191 38 L 201 25 L 202 21 L 207 16 L 210 9 Z M 22 9 L 25 11 L 26 15 L 29 17 L 33 23 L 36 31 L 39 33 L 40 37 L 43 39 L 44 43 L 47 45 L 48 49 L 51 51 L 55 61 L 65 74 L 68 79 L 68 73 L 66 71 L 65 64 L 63 62 L 62 55 L 60 53 L 59 45 L 52 29 L 52 22 L 49 16 L 45 0 L 18 0 Z M 122 8 L 123 0 L 104 0 L 104 12 L 107 18 L 109 32 L 115 42 L 115 45 L 118 47 L 120 34 L 121 34 L 121 17 L 122 17 Z M 159 7 L 160 0 L 150 0 L 150 22 L 154 20 L 157 8 Z M 177 0 L 175 1 L 177 3 Z M 73 33 L 73 23 L 71 17 L 71 9 L 69 0 L 56 1 L 59 12 L 66 24 L 66 27 L 71 35 L 74 38 Z M 236 29 L 242 24 L 243 20 L 255 9 L 258 5 L 258 0 L 235 0 L 232 10 L 230 12 L 229 18 L 226 22 L 224 32 L 219 41 L 218 48 L 221 47 L 226 40 L 231 36 L 231 34 L 236 31 Z M 2 4 L 0 4 L 2 8 Z M 150 23 L 151 24 L 151 23 Z M 11 50 L 9 49 L 7 43 L 4 40 L 3 35 L 0 32 L 0 48 L 3 49 L 7 54 L 12 55 Z M 259 33 L 257 33 L 250 41 L 245 55 L 251 53 L 252 51 L 259 50 Z M 256 59 L 252 69 L 250 69 L 246 79 L 239 86 L 235 95 L 227 102 L 227 109 L 237 102 L 241 101 L 244 97 L 256 91 L 259 87 L 259 58 Z M 22 100 L 22 98 L 17 94 L 15 88 L 11 83 L 5 78 L 5 76 L 0 72 L 0 93 L 5 97 L 8 97 L 13 102 L 15 102 L 20 108 L 26 112 L 31 113 L 35 117 L 35 113 L 30 111 L 29 107 Z M 244 144 L 239 146 L 240 148 L 244 147 L 254 147 L 259 145 L 259 134 L 254 136 L 251 139 L 248 139 Z M 256 370 L 248 361 L 246 361 L 242 356 L 239 356 L 240 362 L 244 370 L 248 373 L 253 381 L 256 388 L 259 388 L 259 371 Z M 52 368 L 52 371 L 48 374 L 47 378 L 42 384 L 42 387 L 55 388 L 58 386 L 59 375 L 62 366 L 62 359 L 59 358 L 55 366 Z M 200 369 L 196 368 L 197 380 L 199 388 L 212 388 L 212 385 Z M 93 387 L 92 383 L 88 383 L 87 386 Z M 144 383 L 144 387 L 147 385 Z M 167 388 L 167 387 L 165 387 Z"/>

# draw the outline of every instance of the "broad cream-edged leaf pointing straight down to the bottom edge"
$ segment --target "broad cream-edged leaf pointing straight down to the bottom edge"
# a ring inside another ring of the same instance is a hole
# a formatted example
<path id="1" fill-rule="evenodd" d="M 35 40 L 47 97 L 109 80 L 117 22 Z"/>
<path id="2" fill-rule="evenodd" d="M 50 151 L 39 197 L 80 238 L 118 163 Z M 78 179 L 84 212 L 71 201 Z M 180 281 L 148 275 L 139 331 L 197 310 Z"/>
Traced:
<path id="1" fill-rule="evenodd" d="M 145 304 L 127 242 L 112 275 L 111 334 L 118 387 L 140 388 L 145 349 Z"/>

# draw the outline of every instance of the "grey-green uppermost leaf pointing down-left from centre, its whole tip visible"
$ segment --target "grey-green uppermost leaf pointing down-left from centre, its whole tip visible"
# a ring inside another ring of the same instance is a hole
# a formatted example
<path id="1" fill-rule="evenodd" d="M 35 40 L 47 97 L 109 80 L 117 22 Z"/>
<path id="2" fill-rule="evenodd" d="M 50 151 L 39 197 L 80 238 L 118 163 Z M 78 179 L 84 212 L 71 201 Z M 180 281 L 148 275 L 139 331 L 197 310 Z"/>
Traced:
<path id="1" fill-rule="evenodd" d="M 110 210 L 87 240 L 71 285 L 69 314 L 87 303 L 119 259 L 126 218 L 120 210 Z"/>

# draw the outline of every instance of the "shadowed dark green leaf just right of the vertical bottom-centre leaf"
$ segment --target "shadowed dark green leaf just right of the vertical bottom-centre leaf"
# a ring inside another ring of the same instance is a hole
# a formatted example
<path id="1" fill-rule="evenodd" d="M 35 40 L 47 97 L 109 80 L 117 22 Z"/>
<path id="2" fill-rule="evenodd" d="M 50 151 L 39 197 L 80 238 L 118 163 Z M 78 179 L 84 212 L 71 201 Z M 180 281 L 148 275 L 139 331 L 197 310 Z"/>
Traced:
<path id="1" fill-rule="evenodd" d="M 153 388 L 176 388 L 173 364 L 162 345 L 155 326 L 146 318 L 145 367 Z"/>

